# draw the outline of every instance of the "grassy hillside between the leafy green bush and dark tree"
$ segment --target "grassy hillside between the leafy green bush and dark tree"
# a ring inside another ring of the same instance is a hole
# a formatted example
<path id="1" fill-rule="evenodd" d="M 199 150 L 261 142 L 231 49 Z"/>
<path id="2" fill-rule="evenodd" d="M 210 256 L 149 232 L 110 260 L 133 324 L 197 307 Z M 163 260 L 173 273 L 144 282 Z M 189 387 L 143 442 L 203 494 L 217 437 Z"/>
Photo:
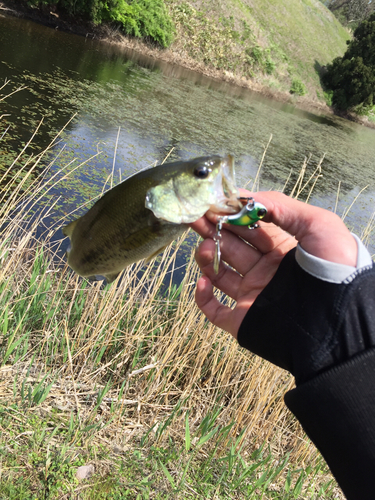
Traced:
<path id="1" fill-rule="evenodd" d="M 343 55 L 350 38 L 319 0 L 166 4 L 176 24 L 173 51 L 276 90 L 289 91 L 293 81 L 303 83 L 315 100 L 323 100 L 319 68 Z"/>

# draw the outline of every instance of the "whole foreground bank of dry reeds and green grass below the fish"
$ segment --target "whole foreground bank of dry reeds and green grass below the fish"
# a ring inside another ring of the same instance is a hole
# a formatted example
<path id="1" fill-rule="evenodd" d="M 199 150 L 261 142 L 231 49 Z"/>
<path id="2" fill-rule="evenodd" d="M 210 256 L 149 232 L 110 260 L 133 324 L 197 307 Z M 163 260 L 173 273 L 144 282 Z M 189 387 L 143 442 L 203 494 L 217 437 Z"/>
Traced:
<path id="1" fill-rule="evenodd" d="M 194 305 L 191 250 L 173 285 L 184 240 L 116 286 L 79 278 L 54 230 L 40 234 L 53 203 L 30 217 L 68 175 L 50 170 L 9 183 L 0 206 L 0 493 L 337 498 L 283 403 L 292 378 Z M 96 472 L 82 490 L 75 472 L 88 462 Z"/>

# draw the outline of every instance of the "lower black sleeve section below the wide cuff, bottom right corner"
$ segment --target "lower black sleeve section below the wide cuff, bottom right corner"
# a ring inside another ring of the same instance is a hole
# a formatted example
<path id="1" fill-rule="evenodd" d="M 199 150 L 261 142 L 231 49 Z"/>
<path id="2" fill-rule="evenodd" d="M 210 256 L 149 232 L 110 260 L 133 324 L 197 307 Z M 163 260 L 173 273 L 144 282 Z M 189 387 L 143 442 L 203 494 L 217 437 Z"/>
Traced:
<path id="1" fill-rule="evenodd" d="M 285 395 L 350 500 L 375 498 L 375 349 Z"/>

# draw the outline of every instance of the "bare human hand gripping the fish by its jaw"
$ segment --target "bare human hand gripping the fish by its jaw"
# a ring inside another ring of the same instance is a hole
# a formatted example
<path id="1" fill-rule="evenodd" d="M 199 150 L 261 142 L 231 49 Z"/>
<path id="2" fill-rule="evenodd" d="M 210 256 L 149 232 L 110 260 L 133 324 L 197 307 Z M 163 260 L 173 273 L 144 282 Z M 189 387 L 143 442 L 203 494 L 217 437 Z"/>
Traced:
<path id="1" fill-rule="evenodd" d="M 252 194 L 241 190 L 241 196 Z M 217 275 L 213 270 L 212 239 L 217 215 L 207 213 L 191 224 L 204 238 L 196 251 L 204 275 L 197 283 L 197 305 L 213 324 L 235 338 L 248 309 L 297 242 L 306 252 L 321 259 L 349 266 L 356 266 L 357 262 L 357 243 L 337 215 L 279 192 L 259 192 L 253 196 L 265 205 L 268 213 L 256 230 L 224 225 Z M 236 301 L 233 309 L 215 298 L 213 286 Z"/>

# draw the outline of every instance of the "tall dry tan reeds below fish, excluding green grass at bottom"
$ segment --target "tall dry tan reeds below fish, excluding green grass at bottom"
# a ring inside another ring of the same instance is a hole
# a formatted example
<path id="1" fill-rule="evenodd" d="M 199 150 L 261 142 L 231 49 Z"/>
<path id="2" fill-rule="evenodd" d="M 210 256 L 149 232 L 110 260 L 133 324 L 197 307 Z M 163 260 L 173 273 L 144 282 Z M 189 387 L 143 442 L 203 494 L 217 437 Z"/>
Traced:
<path id="1" fill-rule="evenodd" d="M 215 426 L 233 425 L 219 444 L 200 448 L 202 460 L 212 449 L 216 457 L 225 455 L 237 439 L 245 459 L 268 446 L 275 460 L 290 453 L 289 468 L 319 467 L 319 453 L 283 402 L 292 377 L 240 349 L 197 309 L 193 293 L 199 271 L 193 255 L 180 287 L 171 285 L 184 238 L 157 263 L 131 266 L 107 287 L 72 273 L 51 246 L 51 234 L 38 240 L 46 214 L 32 221 L 28 214 L 55 183 L 49 167 L 36 174 L 47 155 L 48 148 L 34 158 L 22 152 L 2 181 L 16 172 L 3 190 L 0 208 L 0 398 L 14 417 L 2 429 L 0 444 L 14 453 L 14 443 L 30 447 L 28 439 L 36 433 L 30 416 L 35 416 L 39 425 L 47 425 L 45 463 L 50 463 L 50 450 L 63 447 L 75 463 L 74 457 L 92 445 L 106 446 L 109 457 L 115 449 L 133 450 L 150 429 L 160 446 L 170 439 L 183 444 L 186 415 L 193 435 L 207 415 L 219 410 Z M 301 176 L 297 190 L 304 187 L 308 192 Z M 172 417 L 173 425 L 163 427 Z M 14 481 L 39 470 L 30 460 L 26 454 L 16 475 L 9 468 L 2 477 Z M 102 477 L 113 468 L 108 456 L 95 463 Z M 287 472 L 280 474 L 276 492 L 284 487 Z M 326 471 L 311 481 L 318 491 L 329 479 Z"/>

